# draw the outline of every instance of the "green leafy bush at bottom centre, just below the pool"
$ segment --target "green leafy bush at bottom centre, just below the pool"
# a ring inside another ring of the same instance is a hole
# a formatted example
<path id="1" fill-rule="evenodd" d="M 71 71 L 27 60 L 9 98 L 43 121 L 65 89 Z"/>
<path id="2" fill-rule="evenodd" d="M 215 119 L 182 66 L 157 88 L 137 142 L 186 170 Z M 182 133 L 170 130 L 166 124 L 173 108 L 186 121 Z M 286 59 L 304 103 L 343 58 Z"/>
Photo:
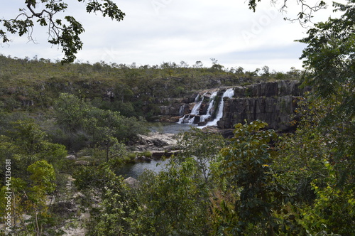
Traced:
<path id="1" fill-rule="evenodd" d="M 143 175 L 139 187 L 146 208 L 142 225 L 148 235 L 207 235 L 208 198 L 197 162 L 187 158 L 157 176 Z"/>

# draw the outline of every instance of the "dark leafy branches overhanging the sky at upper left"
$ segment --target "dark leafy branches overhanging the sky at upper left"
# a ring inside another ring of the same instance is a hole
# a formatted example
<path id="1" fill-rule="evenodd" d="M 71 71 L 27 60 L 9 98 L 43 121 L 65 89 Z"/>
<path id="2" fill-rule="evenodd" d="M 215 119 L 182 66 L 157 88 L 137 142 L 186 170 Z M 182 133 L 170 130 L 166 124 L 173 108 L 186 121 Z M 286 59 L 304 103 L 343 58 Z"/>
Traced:
<path id="1" fill-rule="evenodd" d="M 72 63 L 76 58 L 75 54 L 82 49 L 80 34 L 84 32 L 84 27 L 73 16 L 64 16 L 63 19 L 56 17 L 67 10 L 68 4 L 64 0 L 25 0 L 24 5 L 25 8 L 19 9 L 19 14 L 14 18 L 0 20 L 4 26 L 4 29 L 0 28 L 2 42 L 10 41 L 7 33 L 16 33 L 19 36 L 27 33 L 29 40 L 33 41 L 33 26 L 37 22 L 40 26 L 48 27 L 48 42 L 62 48 L 65 55 L 62 63 Z M 125 16 L 111 0 L 89 0 L 86 11 L 101 12 L 102 16 L 116 21 L 121 21 Z"/>

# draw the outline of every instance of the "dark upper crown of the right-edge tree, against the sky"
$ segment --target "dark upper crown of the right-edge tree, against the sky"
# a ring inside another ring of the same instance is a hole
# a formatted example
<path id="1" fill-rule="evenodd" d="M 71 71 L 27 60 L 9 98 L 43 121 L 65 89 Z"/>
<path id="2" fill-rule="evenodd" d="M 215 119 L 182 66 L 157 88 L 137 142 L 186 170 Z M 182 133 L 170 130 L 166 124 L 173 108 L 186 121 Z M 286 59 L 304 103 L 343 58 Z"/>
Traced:
<path id="1" fill-rule="evenodd" d="M 308 70 L 304 78 L 306 85 L 312 86 L 315 95 L 324 98 L 335 96 L 339 109 L 351 120 L 355 114 L 355 1 L 348 4 L 334 3 L 343 11 L 340 18 L 329 18 L 315 24 L 306 38 L 298 40 L 307 43 L 300 59 L 305 59 L 303 67 Z M 346 112 L 346 114 L 344 113 Z"/>

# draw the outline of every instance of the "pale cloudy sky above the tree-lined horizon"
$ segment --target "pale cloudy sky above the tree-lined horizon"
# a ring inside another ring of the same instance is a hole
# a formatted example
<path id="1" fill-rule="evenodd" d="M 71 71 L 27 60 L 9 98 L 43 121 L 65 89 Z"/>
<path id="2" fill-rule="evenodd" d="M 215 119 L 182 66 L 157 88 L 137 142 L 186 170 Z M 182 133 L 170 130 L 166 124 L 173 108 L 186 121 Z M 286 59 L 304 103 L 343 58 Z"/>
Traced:
<path id="1" fill-rule="evenodd" d="M 0 17 L 13 18 L 18 9 L 25 7 L 23 0 L 1 1 L 6 4 L 1 4 Z M 259 4 L 255 13 L 243 0 L 114 1 L 126 13 L 124 21 L 87 14 L 84 4 L 67 1 L 69 8 L 65 16 L 75 16 L 85 28 L 81 36 L 84 46 L 77 54 L 79 61 L 160 65 L 180 64 L 183 60 L 193 65 L 200 60 L 209 67 L 210 58 L 215 58 L 225 68 L 241 66 L 255 70 L 263 65 L 277 71 L 302 68 L 298 58 L 305 45 L 294 40 L 305 37 L 307 29 L 283 20 L 300 11 L 297 4 L 289 5 L 285 15 L 269 1 Z M 314 21 L 324 21 L 330 13 L 331 9 L 317 13 Z M 47 42 L 45 27 L 34 28 L 36 44 L 28 42 L 26 37 L 11 38 L 11 43 L 0 45 L 1 54 L 18 58 L 35 55 L 53 60 L 62 58 L 60 48 Z"/>

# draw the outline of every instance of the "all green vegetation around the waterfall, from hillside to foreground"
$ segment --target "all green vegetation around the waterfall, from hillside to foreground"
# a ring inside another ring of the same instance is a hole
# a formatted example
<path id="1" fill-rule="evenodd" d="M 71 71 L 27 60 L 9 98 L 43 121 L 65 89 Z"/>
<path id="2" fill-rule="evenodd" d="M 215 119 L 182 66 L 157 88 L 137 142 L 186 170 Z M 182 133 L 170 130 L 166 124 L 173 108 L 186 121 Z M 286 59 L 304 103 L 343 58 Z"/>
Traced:
<path id="1" fill-rule="evenodd" d="M 140 109 L 278 74 L 226 70 L 216 60 L 211 68 L 136 68 L 2 56 L 0 161 L 11 162 L 13 230 L 61 235 L 89 210 L 87 235 L 354 235 L 355 8 L 354 1 L 335 6 L 341 18 L 300 40 L 307 43 L 302 82 L 313 90 L 298 104 L 295 132 L 277 134 L 261 121 L 236 124 L 232 139 L 192 129 L 181 135 L 182 152 L 136 186 L 115 171 L 130 159 L 126 144 L 145 132 Z M 113 101 L 102 100 L 107 91 Z M 89 166 L 65 159 L 68 150 Z M 71 176 L 75 186 L 67 188 Z M 81 208 L 63 210 L 74 195 Z"/>

